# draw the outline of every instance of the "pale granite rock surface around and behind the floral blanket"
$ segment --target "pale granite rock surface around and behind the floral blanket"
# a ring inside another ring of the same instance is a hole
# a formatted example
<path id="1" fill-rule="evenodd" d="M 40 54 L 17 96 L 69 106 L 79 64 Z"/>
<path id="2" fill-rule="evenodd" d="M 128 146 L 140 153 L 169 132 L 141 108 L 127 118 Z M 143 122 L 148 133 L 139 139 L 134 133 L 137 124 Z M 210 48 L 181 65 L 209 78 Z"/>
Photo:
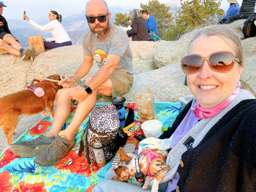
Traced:
<path id="1" fill-rule="evenodd" d="M 241 26 L 243 20 L 238 20 L 223 27 L 229 27 L 242 38 Z M 180 69 L 181 58 L 188 53 L 191 39 L 199 29 L 185 34 L 181 39 L 173 42 L 130 42 L 134 63 L 134 84 L 124 95 L 127 101 L 134 101 L 135 97 L 143 94 L 148 87 L 152 88 L 154 101 L 177 102 L 179 97 L 191 94 L 184 85 L 185 75 Z M 242 40 L 244 51 L 244 77 L 254 91 L 256 91 L 256 37 Z M 0 51 L 0 97 L 22 90 L 32 77 L 46 77 L 65 71 L 75 72 L 83 61 L 81 45 L 72 45 L 52 49 L 36 56 L 34 62 L 22 61 L 21 58 L 10 54 L 1 55 Z M 157 68 L 157 69 L 155 69 Z M 94 75 L 98 66 L 94 63 L 90 73 Z M 97 102 L 104 102 L 103 99 Z M 34 126 L 42 116 L 23 116 L 16 128 L 17 139 L 27 128 Z M 0 131 L 0 152 L 7 147 L 6 137 Z"/>

